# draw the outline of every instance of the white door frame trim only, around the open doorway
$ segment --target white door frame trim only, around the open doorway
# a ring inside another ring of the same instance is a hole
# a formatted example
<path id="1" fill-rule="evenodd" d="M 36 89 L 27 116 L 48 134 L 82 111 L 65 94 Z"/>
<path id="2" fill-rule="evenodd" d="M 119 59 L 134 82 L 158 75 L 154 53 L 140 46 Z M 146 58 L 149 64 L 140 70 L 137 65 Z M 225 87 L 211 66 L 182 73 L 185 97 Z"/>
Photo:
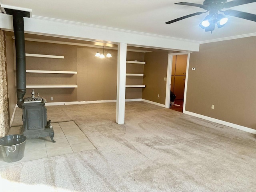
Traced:
<path id="1" fill-rule="evenodd" d="M 168 65 L 167 65 L 167 80 L 166 80 L 166 94 L 165 94 L 165 108 L 170 108 L 170 91 L 171 91 L 171 80 L 172 80 L 172 58 L 174 55 L 188 55 L 187 66 L 186 66 L 186 80 L 185 80 L 185 88 L 184 88 L 184 103 L 183 103 L 183 111 L 186 106 L 186 96 L 187 96 L 187 85 L 188 85 L 188 69 L 189 69 L 189 57 L 190 53 L 181 52 L 181 53 L 169 53 L 168 54 Z"/>

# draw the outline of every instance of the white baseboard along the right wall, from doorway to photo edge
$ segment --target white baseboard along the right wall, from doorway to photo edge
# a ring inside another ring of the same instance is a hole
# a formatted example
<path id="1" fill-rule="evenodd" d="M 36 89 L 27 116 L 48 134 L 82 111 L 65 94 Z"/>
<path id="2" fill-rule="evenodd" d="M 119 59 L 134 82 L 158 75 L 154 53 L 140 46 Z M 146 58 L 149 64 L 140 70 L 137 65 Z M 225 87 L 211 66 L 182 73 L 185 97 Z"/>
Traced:
<path id="1" fill-rule="evenodd" d="M 237 125 L 237 124 L 234 124 L 234 123 L 222 121 L 222 120 L 219 120 L 219 119 L 215 119 L 215 118 L 212 118 L 212 117 L 200 115 L 200 114 L 193 113 L 193 112 L 186 111 L 186 110 L 184 110 L 183 113 L 194 116 L 194 117 L 198 117 L 198 118 L 201 118 L 201 119 L 204 119 L 204 120 L 208 120 L 208 121 L 211 121 L 211 122 L 215 122 L 215 123 L 218 123 L 218 124 L 226 125 L 226 126 L 229 126 L 229 127 L 235 128 L 235 129 L 239 129 L 239 130 L 242 130 L 242 131 L 245 131 L 245 132 L 248 132 L 248 133 L 256 134 L 256 130 L 252 129 L 252 128 L 244 127 L 244 126 L 241 126 L 241 125 Z"/>

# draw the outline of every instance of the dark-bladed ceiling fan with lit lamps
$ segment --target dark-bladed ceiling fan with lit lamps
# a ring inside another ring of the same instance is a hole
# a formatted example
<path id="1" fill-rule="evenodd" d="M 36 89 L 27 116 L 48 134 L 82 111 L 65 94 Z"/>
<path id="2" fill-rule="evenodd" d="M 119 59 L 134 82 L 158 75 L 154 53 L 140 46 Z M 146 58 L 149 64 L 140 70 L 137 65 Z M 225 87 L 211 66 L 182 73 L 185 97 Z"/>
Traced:
<path id="1" fill-rule="evenodd" d="M 189 18 L 192 16 L 200 15 L 203 13 L 207 13 L 207 12 L 209 12 L 209 15 L 207 15 L 204 18 L 204 20 L 199 24 L 199 26 L 200 26 L 200 28 L 205 29 L 205 31 L 210 31 L 211 33 L 215 28 L 215 24 L 217 24 L 218 28 L 221 28 L 228 21 L 227 17 L 225 17 L 223 14 L 219 14 L 218 12 L 222 12 L 228 16 L 239 17 L 242 19 L 251 20 L 251 21 L 256 22 L 256 15 L 254 15 L 254 14 L 228 9 L 228 8 L 231 8 L 234 6 L 253 3 L 253 2 L 256 2 L 256 0 L 232 0 L 229 2 L 227 2 L 227 0 L 204 0 L 203 4 L 188 3 L 188 2 L 174 3 L 177 5 L 187 5 L 187 6 L 199 7 L 206 11 L 205 12 L 196 12 L 193 14 L 189 14 L 189 15 L 174 19 L 174 20 L 170 20 L 170 21 L 166 22 L 166 24 L 174 23 L 176 21 L 186 19 L 186 18 Z M 228 10 L 222 11 L 222 9 L 228 9 Z"/>

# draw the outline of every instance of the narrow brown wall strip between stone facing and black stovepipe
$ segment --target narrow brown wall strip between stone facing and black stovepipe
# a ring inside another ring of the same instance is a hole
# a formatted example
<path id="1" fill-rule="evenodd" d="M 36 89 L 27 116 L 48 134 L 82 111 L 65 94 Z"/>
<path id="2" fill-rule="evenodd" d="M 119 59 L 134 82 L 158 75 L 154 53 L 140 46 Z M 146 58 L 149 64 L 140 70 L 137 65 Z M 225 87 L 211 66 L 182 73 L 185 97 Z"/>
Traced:
<path id="1" fill-rule="evenodd" d="M 14 107 L 17 103 L 16 96 L 16 80 L 14 67 L 14 40 L 11 36 L 6 36 L 6 64 L 7 64 L 7 85 L 8 85 L 8 101 L 9 101 L 9 114 L 10 119 L 14 112 Z"/>

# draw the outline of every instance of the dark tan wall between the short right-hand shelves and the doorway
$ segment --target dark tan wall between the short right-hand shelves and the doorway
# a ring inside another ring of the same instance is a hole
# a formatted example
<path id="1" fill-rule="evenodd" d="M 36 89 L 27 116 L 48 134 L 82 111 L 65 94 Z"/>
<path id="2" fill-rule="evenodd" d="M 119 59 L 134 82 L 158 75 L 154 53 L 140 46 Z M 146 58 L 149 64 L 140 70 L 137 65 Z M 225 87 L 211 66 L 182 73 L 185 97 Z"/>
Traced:
<path id="1" fill-rule="evenodd" d="M 167 76 L 168 53 L 145 53 L 145 62 L 143 84 L 146 88 L 143 88 L 142 98 L 165 104 L 166 81 L 164 77 Z"/>

